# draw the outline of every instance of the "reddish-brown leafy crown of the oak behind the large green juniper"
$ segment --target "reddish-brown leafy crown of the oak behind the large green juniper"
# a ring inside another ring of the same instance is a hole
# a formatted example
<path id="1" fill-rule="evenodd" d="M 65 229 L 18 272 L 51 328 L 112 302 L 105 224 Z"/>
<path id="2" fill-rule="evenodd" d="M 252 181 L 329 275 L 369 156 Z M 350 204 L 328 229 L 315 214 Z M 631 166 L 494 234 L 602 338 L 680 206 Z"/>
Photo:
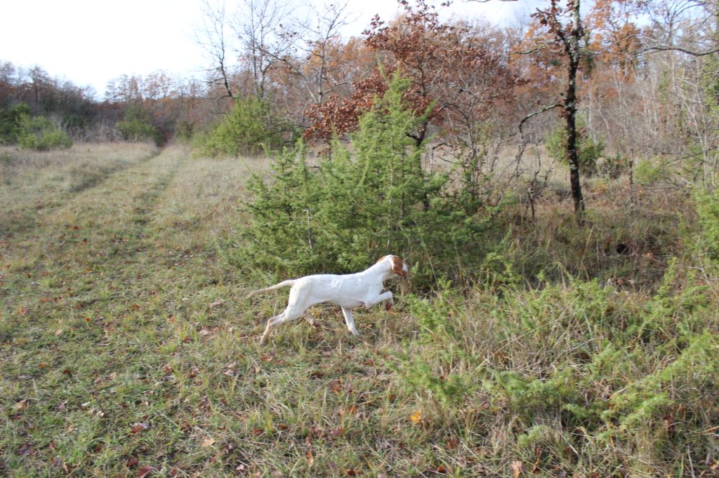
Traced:
<path id="1" fill-rule="evenodd" d="M 434 6 L 425 0 L 414 6 L 406 0 L 399 3 L 404 12 L 398 19 L 385 24 L 375 16 L 365 31 L 365 43 L 380 65 L 353 83 L 349 98 L 331 97 L 311 107 L 311 126 L 305 136 L 326 140 L 352 131 L 359 115 L 385 92 L 389 78 L 399 70 L 412 82 L 404 100 L 418 114 L 432 107 L 426 123 L 408 131 L 416 144 L 426 139 L 430 124 L 435 124 L 449 133 L 462 130 L 463 141 L 476 153 L 477 125 L 498 103 L 511 101 L 516 75 L 500 55 L 484 47 L 481 37 L 472 36 L 470 27 L 440 22 Z"/>

